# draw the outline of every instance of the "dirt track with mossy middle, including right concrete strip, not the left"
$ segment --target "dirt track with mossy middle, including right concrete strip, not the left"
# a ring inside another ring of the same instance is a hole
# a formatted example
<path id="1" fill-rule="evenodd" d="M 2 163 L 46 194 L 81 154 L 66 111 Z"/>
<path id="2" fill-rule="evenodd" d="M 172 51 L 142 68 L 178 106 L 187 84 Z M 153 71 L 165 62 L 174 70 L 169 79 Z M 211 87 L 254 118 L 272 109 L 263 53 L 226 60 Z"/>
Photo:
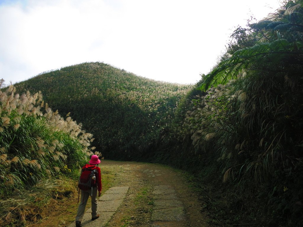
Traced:
<path id="1" fill-rule="evenodd" d="M 108 160 L 102 160 L 100 167 L 102 174 L 113 176 L 109 187 L 128 187 L 106 227 L 207 226 L 198 196 L 180 171 L 158 164 Z"/>

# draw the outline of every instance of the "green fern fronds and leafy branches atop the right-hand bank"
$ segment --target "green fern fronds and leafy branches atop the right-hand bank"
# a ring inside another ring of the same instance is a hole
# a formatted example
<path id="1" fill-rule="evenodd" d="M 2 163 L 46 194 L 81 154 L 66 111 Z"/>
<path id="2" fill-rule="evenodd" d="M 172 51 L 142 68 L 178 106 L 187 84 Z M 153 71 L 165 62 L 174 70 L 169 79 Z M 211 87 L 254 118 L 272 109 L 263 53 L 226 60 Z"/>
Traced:
<path id="1" fill-rule="evenodd" d="M 226 54 L 225 59 L 204 76 L 200 89 L 207 90 L 210 86 L 225 84 L 230 79 L 237 78 L 243 69 L 247 70 L 263 61 L 279 63 L 285 58 L 300 58 L 303 45 L 302 15 L 302 2 L 288 1 L 284 8 L 271 14 L 270 18 L 251 24 L 248 29 L 238 28 L 233 36 L 240 41 L 240 45 L 243 40 L 246 44 L 249 43 L 248 40 L 251 41 L 249 44 L 254 44 L 235 52 L 235 46 L 230 48 L 232 53 Z"/>

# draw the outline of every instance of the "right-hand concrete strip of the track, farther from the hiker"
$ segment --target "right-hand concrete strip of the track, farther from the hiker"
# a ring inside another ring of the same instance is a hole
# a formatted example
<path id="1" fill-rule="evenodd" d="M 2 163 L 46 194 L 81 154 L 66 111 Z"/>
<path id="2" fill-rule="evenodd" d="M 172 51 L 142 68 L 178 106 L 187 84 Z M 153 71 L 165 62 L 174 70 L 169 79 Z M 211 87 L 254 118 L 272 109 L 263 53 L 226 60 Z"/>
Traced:
<path id="1" fill-rule="evenodd" d="M 175 189 L 168 185 L 158 185 L 153 191 L 154 207 L 151 227 L 173 227 L 185 223 L 185 212 Z"/>

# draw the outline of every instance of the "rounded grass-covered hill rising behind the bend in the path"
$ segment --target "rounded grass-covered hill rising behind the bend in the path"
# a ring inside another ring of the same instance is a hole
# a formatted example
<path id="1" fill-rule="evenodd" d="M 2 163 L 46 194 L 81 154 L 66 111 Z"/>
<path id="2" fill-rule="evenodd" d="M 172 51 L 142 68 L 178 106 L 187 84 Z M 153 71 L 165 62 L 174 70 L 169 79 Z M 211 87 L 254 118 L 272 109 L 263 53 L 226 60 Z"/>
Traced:
<path id="1" fill-rule="evenodd" d="M 153 81 L 99 62 L 43 73 L 15 84 L 19 91 L 42 91 L 54 110 L 93 133 L 106 158 L 147 156 L 158 132 L 170 123 L 189 85 Z"/>

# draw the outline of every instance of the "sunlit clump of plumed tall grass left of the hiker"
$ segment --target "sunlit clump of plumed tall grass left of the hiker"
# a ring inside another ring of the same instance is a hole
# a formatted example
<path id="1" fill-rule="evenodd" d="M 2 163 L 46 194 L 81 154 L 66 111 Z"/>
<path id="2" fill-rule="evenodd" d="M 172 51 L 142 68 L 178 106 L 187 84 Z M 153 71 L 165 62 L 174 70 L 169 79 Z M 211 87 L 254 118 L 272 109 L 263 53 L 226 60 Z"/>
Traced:
<path id="1" fill-rule="evenodd" d="M 92 134 L 53 112 L 41 92 L 19 95 L 8 86 L 0 91 L 0 117 L 1 196 L 50 176 L 72 174 L 92 153 Z"/>

